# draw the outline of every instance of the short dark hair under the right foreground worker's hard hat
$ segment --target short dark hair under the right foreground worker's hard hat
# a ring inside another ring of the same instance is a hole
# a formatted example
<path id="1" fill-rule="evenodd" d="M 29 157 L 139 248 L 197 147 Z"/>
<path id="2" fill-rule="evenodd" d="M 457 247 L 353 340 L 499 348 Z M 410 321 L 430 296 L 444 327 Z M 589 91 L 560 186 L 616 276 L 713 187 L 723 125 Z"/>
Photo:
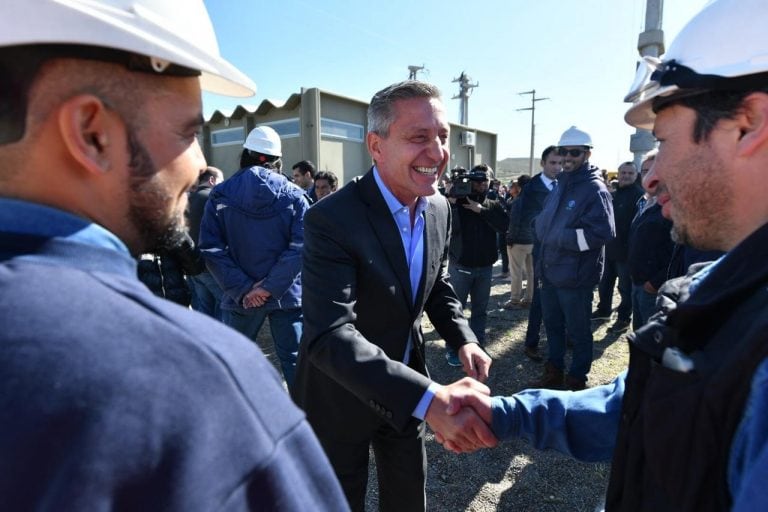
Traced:
<path id="1" fill-rule="evenodd" d="M 681 105 L 696 112 L 693 124 L 693 142 L 699 143 L 709 138 L 715 125 L 723 119 L 735 118 L 744 104 L 744 98 L 752 93 L 768 94 L 768 85 L 749 91 L 686 91 L 676 98 L 660 96 L 653 100 L 653 112 L 658 114 L 672 105 Z"/>

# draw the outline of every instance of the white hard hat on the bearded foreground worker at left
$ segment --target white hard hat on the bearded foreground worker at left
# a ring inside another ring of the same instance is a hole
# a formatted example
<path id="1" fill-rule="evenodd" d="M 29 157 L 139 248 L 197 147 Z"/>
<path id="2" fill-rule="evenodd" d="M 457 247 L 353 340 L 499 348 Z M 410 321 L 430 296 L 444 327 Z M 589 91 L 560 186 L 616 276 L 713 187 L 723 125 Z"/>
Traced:
<path id="1" fill-rule="evenodd" d="M 251 96 L 256 84 L 221 58 L 202 0 L 2 0 L 0 47 L 83 45 L 144 55 L 200 71 L 201 87 Z"/>

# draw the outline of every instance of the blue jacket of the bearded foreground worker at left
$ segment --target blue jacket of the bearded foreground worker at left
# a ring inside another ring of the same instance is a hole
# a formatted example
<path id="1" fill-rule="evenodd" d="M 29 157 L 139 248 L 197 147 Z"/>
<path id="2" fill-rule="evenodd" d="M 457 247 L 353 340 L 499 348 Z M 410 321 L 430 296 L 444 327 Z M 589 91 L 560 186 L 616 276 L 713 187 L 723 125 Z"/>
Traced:
<path id="1" fill-rule="evenodd" d="M 254 344 L 154 296 L 114 235 L 0 199 L 4 510 L 347 510 Z"/>

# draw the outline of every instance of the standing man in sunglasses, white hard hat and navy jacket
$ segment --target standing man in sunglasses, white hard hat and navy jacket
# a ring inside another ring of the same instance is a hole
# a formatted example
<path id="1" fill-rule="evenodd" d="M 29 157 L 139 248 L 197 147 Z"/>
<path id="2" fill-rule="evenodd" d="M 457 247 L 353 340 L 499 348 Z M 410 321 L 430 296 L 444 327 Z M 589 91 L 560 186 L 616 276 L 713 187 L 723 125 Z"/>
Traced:
<path id="1" fill-rule="evenodd" d="M 584 389 L 592 367 L 592 290 L 603 270 L 604 245 L 615 236 L 611 194 L 589 164 L 592 139 L 575 126 L 560 137 L 563 172 L 536 218 L 541 255 L 541 307 L 549 356 L 533 387 Z M 573 358 L 565 375 L 565 333 Z"/>

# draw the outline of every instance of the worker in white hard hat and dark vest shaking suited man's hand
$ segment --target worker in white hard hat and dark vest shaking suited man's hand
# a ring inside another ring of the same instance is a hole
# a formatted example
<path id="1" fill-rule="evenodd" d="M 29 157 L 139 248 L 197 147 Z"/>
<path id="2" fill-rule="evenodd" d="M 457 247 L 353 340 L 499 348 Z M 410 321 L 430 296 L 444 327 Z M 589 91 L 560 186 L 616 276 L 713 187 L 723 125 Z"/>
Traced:
<path id="1" fill-rule="evenodd" d="M 615 382 L 467 401 L 500 438 L 613 457 L 606 510 L 768 510 L 765 19 L 763 0 L 712 2 L 628 96 L 660 141 L 645 183 L 674 236 L 727 253 L 661 287 Z"/>

